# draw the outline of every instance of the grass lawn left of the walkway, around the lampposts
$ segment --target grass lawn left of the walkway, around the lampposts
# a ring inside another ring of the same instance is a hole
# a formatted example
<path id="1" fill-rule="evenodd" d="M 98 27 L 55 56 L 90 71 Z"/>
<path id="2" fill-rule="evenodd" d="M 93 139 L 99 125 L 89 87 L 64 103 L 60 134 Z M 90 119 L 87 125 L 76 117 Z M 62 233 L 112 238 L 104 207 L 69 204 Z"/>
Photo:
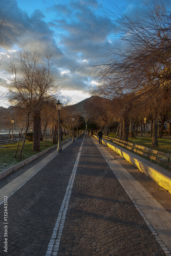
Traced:
<path id="1" fill-rule="evenodd" d="M 66 136 L 65 136 L 66 139 Z M 34 156 L 38 153 L 40 153 L 43 150 L 46 150 L 49 147 L 54 146 L 55 144 L 52 144 L 52 140 L 47 140 L 47 147 L 44 146 L 44 141 L 40 142 L 40 151 L 39 152 L 33 152 L 32 151 L 32 144 L 33 142 L 25 142 L 25 146 L 22 153 L 22 159 L 19 159 L 19 153 L 17 152 L 17 157 L 15 158 L 15 152 L 17 149 L 17 143 L 8 144 L 8 145 L 2 145 L 0 146 L 0 172 L 3 170 L 9 168 L 10 166 L 13 166 L 15 164 L 18 164 L 19 162 L 24 161 L 25 159 Z M 19 149 L 21 149 L 22 142 L 19 143 Z"/>

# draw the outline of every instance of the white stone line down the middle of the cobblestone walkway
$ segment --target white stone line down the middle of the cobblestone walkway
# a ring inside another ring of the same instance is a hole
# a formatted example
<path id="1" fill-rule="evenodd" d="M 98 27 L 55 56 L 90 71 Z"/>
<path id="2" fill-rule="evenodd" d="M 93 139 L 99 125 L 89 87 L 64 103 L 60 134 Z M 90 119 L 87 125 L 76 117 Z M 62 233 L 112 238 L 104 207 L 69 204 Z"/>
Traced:
<path id="1" fill-rule="evenodd" d="M 84 135 L 84 138 L 85 138 L 85 135 Z M 50 256 L 50 255 L 56 256 L 59 251 L 59 244 L 60 244 L 60 240 L 61 240 L 61 236 L 62 236 L 62 230 L 63 230 L 64 223 L 65 223 L 66 212 L 67 212 L 68 205 L 69 205 L 69 200 L 70 200 L 70 196 L 71 196 L 71 192 L 72 192 L 72 188 L 73 188 L 73 184 L 74 184 L 75 174 L 76 174 L 84 138 L 83 138 L 83 141 L 79 148 L 77 159 L 75 161 L 74 168 L 72 170 L 72 174 L 71 174 L 68 186 L 66 188 L 66 193 L 65 193 L 64 199 L 62 201 L 61 209 L 59 211 L 58 218 L 55 223 L 55 227 L 53 229 L 53 234 L 52 234 L 52 237 L 48 244 L 48 250 L 46 252 L 46 256 Z M 57 233 L 58 233 L 58 236 L 57 236 Z"/>

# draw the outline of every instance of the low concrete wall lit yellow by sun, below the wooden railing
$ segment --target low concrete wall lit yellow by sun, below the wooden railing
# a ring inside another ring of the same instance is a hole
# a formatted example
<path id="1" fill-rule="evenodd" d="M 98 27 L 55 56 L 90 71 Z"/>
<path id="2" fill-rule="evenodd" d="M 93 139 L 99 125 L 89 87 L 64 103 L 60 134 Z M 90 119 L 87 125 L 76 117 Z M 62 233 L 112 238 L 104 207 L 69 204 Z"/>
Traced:
<path id="1" fill-rule="evenodd" d="M 96 138 L 98 136 L 94 135 Z M 152 163 L 141 156 L 135 155 L 134 153 L 124 149 L 110 141 L 104 140 L 102 138 L 102 143 L 110 147 L 112 150 L 117 152 L 119 155 L 124 157 L 127 161 L 131 162 L 135 167 L 140 169 L 148 177 L 154 180 L 164 189 L 168 190 L 171 193 L 171 172 L 165 168 Z"/>

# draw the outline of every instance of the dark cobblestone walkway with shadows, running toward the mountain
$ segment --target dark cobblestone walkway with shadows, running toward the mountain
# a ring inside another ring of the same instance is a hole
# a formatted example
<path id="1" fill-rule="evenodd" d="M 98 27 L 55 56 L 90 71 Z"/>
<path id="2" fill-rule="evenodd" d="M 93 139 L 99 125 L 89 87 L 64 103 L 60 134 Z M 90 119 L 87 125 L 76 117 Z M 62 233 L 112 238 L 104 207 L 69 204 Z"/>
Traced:
<path id="1" fill-rule="evenodd" d="M 86 133 L 2 180 L 0 255 L 171 256 L 102 148 Z"/>

